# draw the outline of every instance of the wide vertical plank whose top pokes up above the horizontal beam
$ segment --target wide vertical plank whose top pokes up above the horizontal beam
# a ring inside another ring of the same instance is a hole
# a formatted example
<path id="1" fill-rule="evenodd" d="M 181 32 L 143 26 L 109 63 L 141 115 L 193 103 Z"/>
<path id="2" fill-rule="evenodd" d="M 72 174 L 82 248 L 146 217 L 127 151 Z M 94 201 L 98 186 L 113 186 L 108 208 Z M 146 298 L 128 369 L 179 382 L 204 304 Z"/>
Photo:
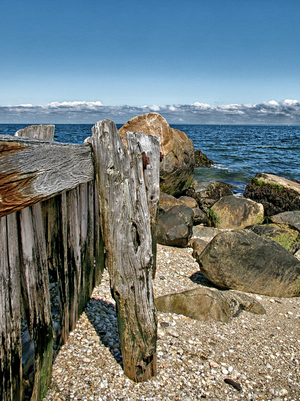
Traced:
<path id="1" fill-rule="evenodd" d="M 54 125 L 32 125 L 15 133 L 15 136 L 53 140 Z M 55 204 L 50 200 L 43 207 L 50 213 L 55 213 Z M 34 340 L 34 384 L 31 400 L 41 399 L 51 380 L 53 324 L 49 300 L 49 279 L 47 265 L 47 250 L 44 233 L 44 221 L 41 204 L 21 210 L 19 217 L 20 245 L 21 245 L 21 283 L 22 296 L 27 326 L 30 338 Z M 50 227 L 49 227 L 50 226 Z M 53 227 L 52 227 L 53 226 Z M 55 220 L 47 222 L 48 234 L 56 229 Z M 50 230 L 50 231 L 48 231 Z M 52 246 L 51 236 L 48 244 Z M 56 249 L 55 249 L 56 251 Z M 50 265 L 59 262 L 59 255 L 54 253 Z M 54 270 L 54 266 L 52 268 Z"/>

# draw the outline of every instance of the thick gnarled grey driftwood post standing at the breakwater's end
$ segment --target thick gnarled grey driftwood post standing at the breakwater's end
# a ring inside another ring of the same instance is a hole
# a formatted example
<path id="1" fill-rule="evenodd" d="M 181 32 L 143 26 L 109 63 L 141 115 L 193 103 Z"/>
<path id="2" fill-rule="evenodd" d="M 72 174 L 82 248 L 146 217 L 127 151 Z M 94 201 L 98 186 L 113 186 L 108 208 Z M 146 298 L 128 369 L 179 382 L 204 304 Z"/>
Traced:
<path id="1" fill-rule="evenodd" d="M 128 134 L 128 149 L 111 120 L 92 127 L 100 222 L 111 293 L 116 302 L 124 373 L 134 381 L 156 375 L 157 318 L 152 292 L 152 247 L 141 138 Z M 159 142 L 149 137 L 159 158 Z M 147 156 L 146 154 L 144 156 Z M 154 163 L 156 165 L 156 163 Z M 157 163 L 157 166 L 159 162 Z M 146 160 L 144 162 L 146 168 Z M 158 177 L 153 171 L 153 177 Z M 153 181 L 153 185 L 159 185 Z"/>

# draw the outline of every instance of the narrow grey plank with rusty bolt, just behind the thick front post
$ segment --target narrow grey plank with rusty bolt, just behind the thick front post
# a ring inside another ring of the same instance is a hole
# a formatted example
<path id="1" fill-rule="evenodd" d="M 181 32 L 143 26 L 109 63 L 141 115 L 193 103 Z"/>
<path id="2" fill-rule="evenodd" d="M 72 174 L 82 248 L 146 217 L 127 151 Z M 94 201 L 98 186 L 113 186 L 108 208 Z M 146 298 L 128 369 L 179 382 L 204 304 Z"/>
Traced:
<path id="1" fill-rule="evenodd" d="M 143 173 L 150 217 L 150 230 L 152 239 L 152 279 L 156 271 L 156 226 L 159 201 L 159 138 L 141 134 L 140 132 L 127 133 L 127 146 L 129 152 L 139 150 L 143 156 Z M 134 149 L 136 147 L 136 149 Z"/>

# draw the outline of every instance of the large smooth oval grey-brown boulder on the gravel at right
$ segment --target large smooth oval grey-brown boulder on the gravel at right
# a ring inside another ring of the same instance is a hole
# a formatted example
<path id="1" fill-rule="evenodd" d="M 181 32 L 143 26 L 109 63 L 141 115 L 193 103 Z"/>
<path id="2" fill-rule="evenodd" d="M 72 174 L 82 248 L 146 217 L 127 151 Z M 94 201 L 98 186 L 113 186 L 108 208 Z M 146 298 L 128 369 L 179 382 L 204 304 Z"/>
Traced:
<path id="1" fill-rule="evenodd" d="M 221 288 L 269 295 L 300 295 L 300 262 L 277 242 L 249 230 L 218 234 L 199 255 L 201 273 Z"/>

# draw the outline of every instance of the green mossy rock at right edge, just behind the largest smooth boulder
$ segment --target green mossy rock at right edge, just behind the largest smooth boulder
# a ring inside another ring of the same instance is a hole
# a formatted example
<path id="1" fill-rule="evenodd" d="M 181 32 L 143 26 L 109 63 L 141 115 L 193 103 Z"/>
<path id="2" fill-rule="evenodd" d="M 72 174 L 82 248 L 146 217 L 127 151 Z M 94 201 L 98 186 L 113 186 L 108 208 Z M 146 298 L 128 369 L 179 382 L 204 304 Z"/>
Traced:
<path id="1" fill-rule="evenodd" d="M 247 230 L 269 238 L 294 254 L 300 247 L 300 234 L 284 224 L 264 224 L 246 227 Z"/>

